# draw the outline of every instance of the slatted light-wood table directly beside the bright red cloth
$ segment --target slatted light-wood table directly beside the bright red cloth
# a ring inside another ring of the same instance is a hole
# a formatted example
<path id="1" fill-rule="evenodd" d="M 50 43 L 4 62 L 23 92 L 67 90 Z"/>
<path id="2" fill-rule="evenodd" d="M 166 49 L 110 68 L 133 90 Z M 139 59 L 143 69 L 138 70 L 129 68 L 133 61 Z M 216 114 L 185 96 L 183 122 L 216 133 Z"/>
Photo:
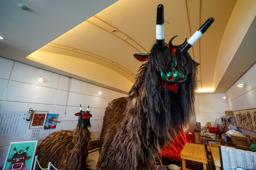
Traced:
<path id="1" fill-rule="evenodd" d="M 186 168 L 187 160 L 201 162 L 203 163 L 204 170 L 207 170 L 207 157 L 203 144 L 193 144 L 187 142 L 180 153 L 180 158 L 182 159 L 183 170 L 189 170 L 188 168 Z"/>

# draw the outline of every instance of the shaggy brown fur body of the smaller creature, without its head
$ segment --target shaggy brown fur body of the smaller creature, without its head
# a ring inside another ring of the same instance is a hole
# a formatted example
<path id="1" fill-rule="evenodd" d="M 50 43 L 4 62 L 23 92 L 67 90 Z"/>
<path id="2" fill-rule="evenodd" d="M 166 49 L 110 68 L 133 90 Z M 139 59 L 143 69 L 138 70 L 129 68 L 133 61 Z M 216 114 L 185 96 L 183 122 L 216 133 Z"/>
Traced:
<path id="1" fill-rule="evenodd" d="M 84 123 L 91 127 L 88 119 L 80 118 L 73 131 L 61 130 L 47 136 L 36 149 L 39 164 L 46 168 L 48 163 L 52 162 L 58 170 L 87 169 L 87 144 L 91 139 L 91 133 Z M 36 166 L 36 170 L 40 170 L 40 167 Z"/>

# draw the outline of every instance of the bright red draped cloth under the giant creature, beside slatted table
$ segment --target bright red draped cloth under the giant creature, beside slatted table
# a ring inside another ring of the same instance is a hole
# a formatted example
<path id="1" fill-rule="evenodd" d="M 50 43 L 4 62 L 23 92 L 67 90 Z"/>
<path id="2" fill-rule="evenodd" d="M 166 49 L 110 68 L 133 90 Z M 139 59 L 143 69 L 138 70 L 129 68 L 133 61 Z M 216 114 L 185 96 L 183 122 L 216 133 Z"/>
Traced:
<path id="1" fill-rule="evenodd" d="M 185 143 L 187 142 L 187 138 L 182 129 L 180 132 L 180 137 L 175 137 L 171 143 L 171 146 L 164 146 L 164 150 L 162 150 L 162 159 L 163 160 L 176 160 L 181 161 L 180 152 L 182 151 Z M 158 152 L 158 156 L 160 158 L 161 154 Z"/>

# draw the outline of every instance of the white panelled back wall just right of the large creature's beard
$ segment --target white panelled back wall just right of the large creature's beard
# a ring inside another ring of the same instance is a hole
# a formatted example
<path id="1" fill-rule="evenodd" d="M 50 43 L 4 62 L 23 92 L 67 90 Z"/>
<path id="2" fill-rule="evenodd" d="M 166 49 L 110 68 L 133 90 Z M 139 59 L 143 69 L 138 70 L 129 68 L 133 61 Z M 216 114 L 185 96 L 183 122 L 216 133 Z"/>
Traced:
<path id="1" fill-rule="evenodd" d="M 195 102 L 196 122 L 201 122 L 201 126 L 207 126 L 211 122 L 216 127 L 216 118 L 221 126 L 220 116 L 225 116 L 228 110 L 226 100 L 223 98 L 224 93 L 197 94 Z"/>

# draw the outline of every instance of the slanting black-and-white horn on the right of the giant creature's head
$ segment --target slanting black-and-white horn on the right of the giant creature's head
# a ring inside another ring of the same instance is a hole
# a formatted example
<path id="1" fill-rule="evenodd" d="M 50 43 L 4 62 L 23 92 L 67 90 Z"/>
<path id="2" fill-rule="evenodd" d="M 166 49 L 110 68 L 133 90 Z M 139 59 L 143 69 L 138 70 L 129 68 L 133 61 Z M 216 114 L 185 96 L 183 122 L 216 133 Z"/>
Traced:
<path id="1" fill-rule="evenodd" d="M 214 19 L 209 18 L 205 23 L 194 33 L 190 39 L 188 39 L 188 42 L 180 49 L 182 53 L 186 53 L 189 48 L 191 48 L 197 40 L 206 32 L 206 30 L 212 25 Z"/>

